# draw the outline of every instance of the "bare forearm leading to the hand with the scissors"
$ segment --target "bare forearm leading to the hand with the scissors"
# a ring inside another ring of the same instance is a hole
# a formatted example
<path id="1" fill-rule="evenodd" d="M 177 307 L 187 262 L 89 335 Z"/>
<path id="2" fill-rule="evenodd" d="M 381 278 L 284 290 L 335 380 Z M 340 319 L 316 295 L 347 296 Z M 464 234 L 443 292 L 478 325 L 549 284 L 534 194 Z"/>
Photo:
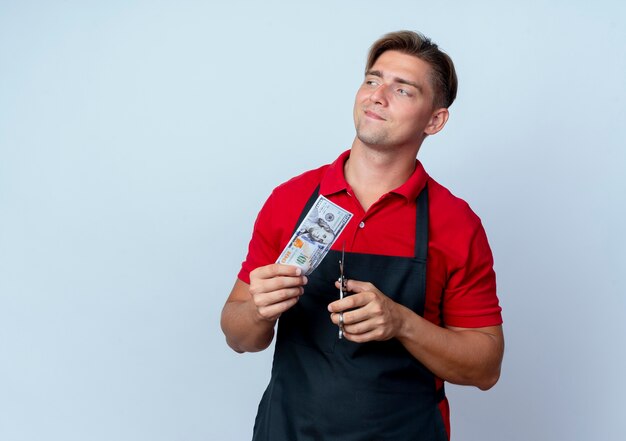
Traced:
<path id="1" fill-rule="evenodd" d="M 396 338 L 439 378 L 483 390 L 496 384 L 504 352 L 500 327 L 446 329 L 404 307 L 400 314 Z"/>

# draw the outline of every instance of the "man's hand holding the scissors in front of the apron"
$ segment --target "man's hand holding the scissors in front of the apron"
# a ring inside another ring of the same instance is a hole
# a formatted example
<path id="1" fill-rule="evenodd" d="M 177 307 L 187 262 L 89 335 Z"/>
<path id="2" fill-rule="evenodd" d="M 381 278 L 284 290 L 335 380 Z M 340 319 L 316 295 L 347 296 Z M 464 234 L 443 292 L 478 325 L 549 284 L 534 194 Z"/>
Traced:
<path id="1" fill-rule="evenodd" d="M 339 282 L 335 282 L 339 289 Z M 343 331 L 347 340 L 357 343 L 389 340 L 400 331 L 406 308 L 383 294 L 369 282 L 348 280 L 348 292 L 353 293 L 328 305 L 330 319 L 339 325 L 343 313 Z"/>

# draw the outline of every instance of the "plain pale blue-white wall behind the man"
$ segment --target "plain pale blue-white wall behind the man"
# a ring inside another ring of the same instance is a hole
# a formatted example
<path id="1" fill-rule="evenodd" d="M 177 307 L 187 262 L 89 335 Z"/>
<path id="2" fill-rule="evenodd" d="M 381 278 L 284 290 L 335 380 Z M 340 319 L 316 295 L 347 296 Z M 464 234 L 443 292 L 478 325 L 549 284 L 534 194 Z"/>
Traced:
<path id="1" fill-rule="evenodd" d="M 412 29 L 458 69 L 420 158 L 485 224 L 507 338 L 453 439 L 623 440 L 626 3 L 505 3 L 0 3 L 0 439 L 249 439 L 271 351 L 219 315 L 252 223 Z"/>

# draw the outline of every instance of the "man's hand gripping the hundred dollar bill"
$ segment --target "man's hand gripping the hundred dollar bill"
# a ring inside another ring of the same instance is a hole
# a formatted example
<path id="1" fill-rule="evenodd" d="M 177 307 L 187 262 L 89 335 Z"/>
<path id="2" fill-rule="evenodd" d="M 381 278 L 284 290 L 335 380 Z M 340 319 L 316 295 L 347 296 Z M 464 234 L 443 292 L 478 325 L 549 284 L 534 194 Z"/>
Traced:
<path id="1" fill-rule="evenodd" d="M 298 302 L 304 293 L 307 277 L 293 265 L 274 263 L 259 267 L 250 273 L 250 295 L 258 318 L 275 321 Z"/>

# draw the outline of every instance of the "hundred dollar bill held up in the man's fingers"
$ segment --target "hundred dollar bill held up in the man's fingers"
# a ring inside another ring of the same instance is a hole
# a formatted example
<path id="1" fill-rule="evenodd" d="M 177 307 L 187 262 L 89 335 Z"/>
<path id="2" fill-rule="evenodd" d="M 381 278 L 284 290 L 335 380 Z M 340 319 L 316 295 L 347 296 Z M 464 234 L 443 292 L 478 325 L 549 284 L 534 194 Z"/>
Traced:
<path id="1" fill-rule="evenodd" d="M 295 265 L 305 275 L 311 274 L 328 254 L 352 213 L 320 195 L 276 263 Z"/>

